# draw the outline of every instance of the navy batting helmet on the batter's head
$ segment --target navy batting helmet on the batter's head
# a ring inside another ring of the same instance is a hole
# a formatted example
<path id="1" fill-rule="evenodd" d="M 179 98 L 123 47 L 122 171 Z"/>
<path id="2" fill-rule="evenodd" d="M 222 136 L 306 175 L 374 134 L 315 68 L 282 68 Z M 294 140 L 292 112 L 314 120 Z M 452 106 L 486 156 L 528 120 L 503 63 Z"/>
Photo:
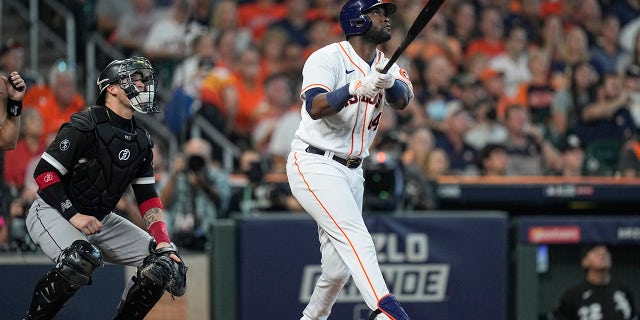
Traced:
<path id="1" fill-rule="evenodd" d="M 371 28 L 371 18 L 367 12 L 382 6 L 387 16 L 396 12 L 396 5 L 382 0 L 349 0 L 340 10 L 340 27 L 345 35 L 364 34 Z"/>

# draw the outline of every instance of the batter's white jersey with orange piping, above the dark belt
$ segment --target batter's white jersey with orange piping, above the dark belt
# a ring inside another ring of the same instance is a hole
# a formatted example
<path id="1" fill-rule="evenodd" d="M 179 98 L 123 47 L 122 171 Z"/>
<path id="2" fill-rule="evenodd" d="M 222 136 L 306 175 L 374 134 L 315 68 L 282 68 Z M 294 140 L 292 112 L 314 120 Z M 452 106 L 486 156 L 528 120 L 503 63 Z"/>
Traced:
<path id="1" fill-rule="evenodd" d="M 348 41 L 332 43 L 315 51 L 302 70 L 302 99 L 305 100 L 305 92 L 309 89 L 334 91 L 364 78 L 376 65 L 385 66 L 388 59 L 382 51 L 376 51 L 372 65 L 362 60 Z M 413 90 L 407 72 L 397 64 L 393 64 L 389 73 Z M 369 155 L 369 147 L 378 130 L 382 111 L 387 106 L 384 90 L 380 90 L 377 98 L 353 96 L 338 114 L 313 120 L 303 101 L 302 120 L 292 142 L 292 149 L 304 150 L 308 145 L 313 145 L 325 151 L 333 151 L 343 158 L 365 158 Z"/>

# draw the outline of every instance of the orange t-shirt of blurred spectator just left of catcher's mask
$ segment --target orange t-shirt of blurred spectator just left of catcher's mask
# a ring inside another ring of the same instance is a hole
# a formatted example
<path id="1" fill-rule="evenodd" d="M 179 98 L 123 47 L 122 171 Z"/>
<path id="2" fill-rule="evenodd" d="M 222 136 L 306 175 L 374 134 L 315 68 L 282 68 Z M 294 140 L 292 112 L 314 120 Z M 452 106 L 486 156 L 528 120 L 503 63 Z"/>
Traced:
<path id="1" fill-rule="evenodd" d="M 70 105 L 65 109 L 60 108 L 53 92 L 46 86 L 34 86 L 28 89 L 24 96 L 23 105 L 27 108 L 36 108 L 40 112 L 44 125 L 43 139 L 46 139 L 50 134 L 56 134 L 60 126 L 71 119 L 72 114 L 82 111 L 86 107 L 84 98 L 76 94 Z"/>

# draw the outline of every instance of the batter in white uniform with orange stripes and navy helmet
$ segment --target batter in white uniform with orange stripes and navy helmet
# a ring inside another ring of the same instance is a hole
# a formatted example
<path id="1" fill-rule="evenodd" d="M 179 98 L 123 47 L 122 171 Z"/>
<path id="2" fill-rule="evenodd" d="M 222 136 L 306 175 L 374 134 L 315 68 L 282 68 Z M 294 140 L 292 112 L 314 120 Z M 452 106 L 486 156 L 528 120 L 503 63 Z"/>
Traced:
<path id="1" fill-rule="evenodd" d="M 362 218 L 362 159 L 382 112 L 404 109 L 413 98 L 405 70 L 377 49 L 391 38 L 396 6 L 349 0 L 340 12 L 346 41 L 327 45 L 305 62 L 302 121 L 291 144 L 287 176 L 293 195 L 318 223 L 322 274 L 301 320 L 328 319 L 340 291 L 353 277 L 370 319 L 409 316 L 380 272 L 376 250 Z"/>

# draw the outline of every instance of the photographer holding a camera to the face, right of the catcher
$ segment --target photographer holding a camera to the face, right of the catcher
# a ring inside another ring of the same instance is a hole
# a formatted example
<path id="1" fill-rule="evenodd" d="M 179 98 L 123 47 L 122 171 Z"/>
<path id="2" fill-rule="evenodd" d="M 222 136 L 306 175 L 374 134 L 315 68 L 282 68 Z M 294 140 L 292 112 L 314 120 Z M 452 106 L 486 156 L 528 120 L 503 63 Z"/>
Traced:
<path id="1" fill-rule="evenodd" d="M 199 138 L 188 140 L 183 154 L 176 156 L 172 173 L 160 183 L 174 242 L 205 250 L 211 223 L 226 214 L 230 190 L 228 175 L 211 159 L 211 145 Z"/>

